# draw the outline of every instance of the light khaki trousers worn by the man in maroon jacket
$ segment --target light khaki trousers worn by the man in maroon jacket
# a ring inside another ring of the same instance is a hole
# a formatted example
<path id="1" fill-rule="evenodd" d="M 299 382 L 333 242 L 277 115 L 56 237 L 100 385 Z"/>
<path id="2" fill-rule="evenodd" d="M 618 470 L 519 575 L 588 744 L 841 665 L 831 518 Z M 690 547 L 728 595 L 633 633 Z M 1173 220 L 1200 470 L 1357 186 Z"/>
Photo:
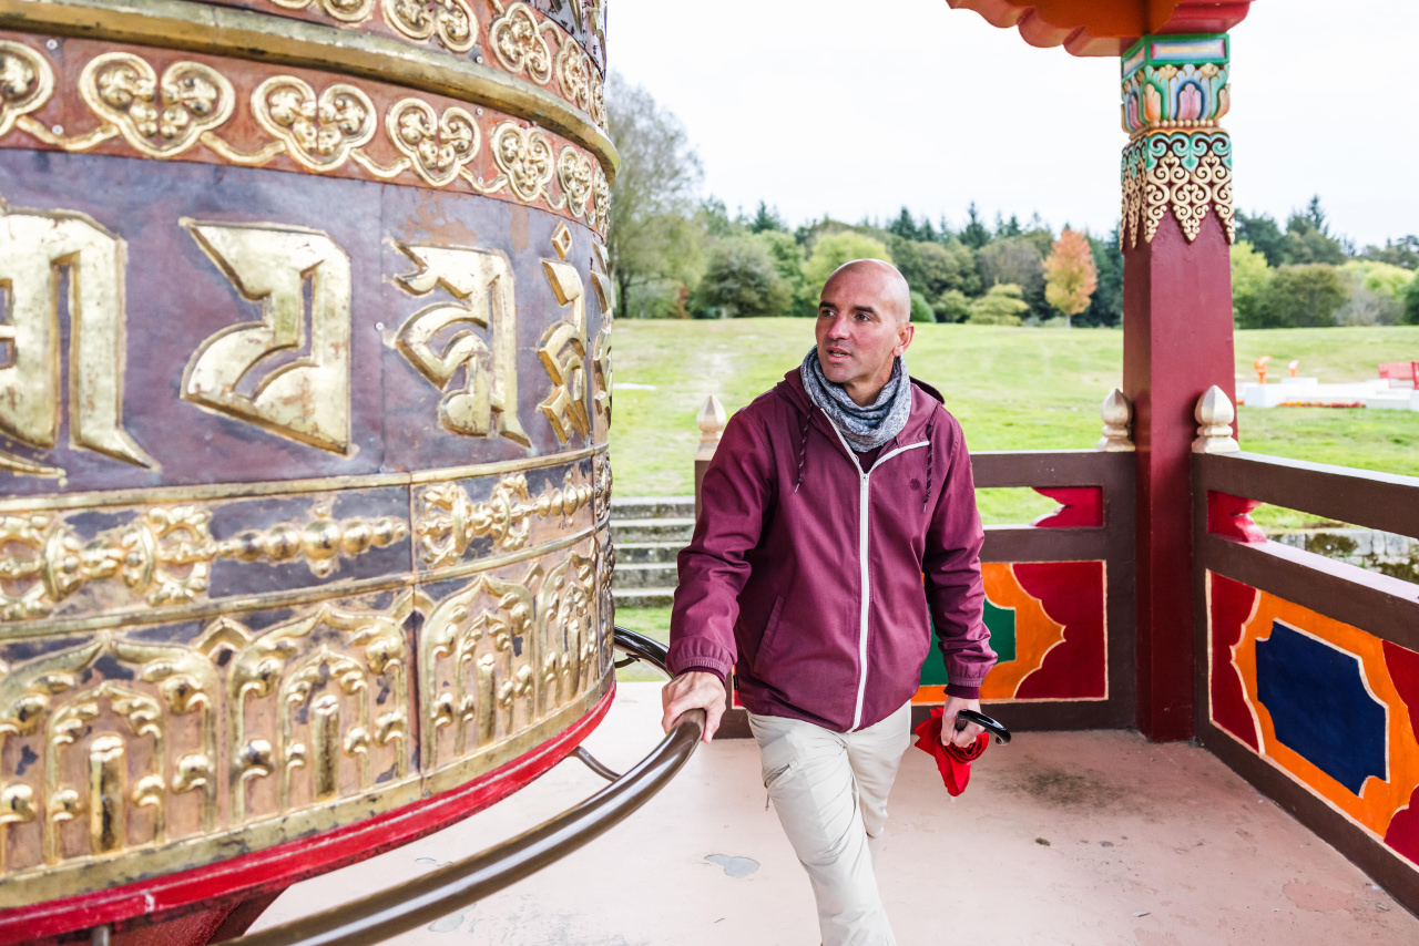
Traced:
<path id="1" fill-rule="evenodd" d="M 749 713 L 763 786 L 817 901 L 824 946 L 895 946 L 876 861 L 911 703 L 857 732 Z"/>

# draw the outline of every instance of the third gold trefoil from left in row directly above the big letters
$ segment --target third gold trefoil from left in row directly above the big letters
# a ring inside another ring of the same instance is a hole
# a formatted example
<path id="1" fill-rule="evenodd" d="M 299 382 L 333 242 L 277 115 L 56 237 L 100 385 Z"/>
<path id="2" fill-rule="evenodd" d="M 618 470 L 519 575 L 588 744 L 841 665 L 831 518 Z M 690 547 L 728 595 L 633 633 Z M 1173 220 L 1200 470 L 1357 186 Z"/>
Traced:
<path id="1" fill-rule="evenodd" d="M 375 104 L 348 82 L 316 95 L 304 79 L 274 75 L 251 94 L 251 111 L 295 160 L 318 172 L 343 165 L 377 129 Z"/>

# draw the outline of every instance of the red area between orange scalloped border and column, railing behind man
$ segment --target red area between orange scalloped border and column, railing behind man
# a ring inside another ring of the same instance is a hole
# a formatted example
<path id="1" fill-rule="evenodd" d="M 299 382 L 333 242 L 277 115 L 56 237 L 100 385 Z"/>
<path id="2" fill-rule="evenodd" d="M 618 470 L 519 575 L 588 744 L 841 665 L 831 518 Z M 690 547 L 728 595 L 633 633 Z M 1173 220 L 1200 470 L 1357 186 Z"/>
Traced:
<path id="1" fill-rule="evenodd" d="M 1017 562 L 1020 587 L 1064 625 L 1064 640 L 1026 677 L 1020 699 L 1101 699 L 1108 695 L 1103 562 Z"/>

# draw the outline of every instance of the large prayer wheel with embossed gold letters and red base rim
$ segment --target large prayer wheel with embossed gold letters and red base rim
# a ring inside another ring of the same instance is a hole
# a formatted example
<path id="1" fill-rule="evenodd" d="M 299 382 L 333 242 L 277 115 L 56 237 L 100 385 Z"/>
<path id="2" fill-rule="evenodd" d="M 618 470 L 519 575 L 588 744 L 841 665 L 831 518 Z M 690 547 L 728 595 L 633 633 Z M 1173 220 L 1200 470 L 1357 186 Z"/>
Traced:
<path id="1" fill-rule="evenodd" d="M 201 939 L 600 719 L 603 28 L 0 0 L 0 943 Z"/>

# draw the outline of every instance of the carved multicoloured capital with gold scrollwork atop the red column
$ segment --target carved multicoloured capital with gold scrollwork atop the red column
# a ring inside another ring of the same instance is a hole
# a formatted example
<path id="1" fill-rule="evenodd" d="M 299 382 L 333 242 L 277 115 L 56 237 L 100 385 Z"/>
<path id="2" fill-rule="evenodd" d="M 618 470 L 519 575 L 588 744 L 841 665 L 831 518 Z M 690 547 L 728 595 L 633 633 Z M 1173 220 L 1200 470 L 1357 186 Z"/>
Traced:
<path id="1" fill-rule="evenodd" d="M 1125 245 L 1152 243 L 1171 213 L 1188 243 L 1210 208 L 1236 240 L 1232 138 L 1219 119 L 1230 106 L 1226 35 L 1145 35 L 1121 61 L 1122 123 L 1130 133 L 1120 176 Z"/>

